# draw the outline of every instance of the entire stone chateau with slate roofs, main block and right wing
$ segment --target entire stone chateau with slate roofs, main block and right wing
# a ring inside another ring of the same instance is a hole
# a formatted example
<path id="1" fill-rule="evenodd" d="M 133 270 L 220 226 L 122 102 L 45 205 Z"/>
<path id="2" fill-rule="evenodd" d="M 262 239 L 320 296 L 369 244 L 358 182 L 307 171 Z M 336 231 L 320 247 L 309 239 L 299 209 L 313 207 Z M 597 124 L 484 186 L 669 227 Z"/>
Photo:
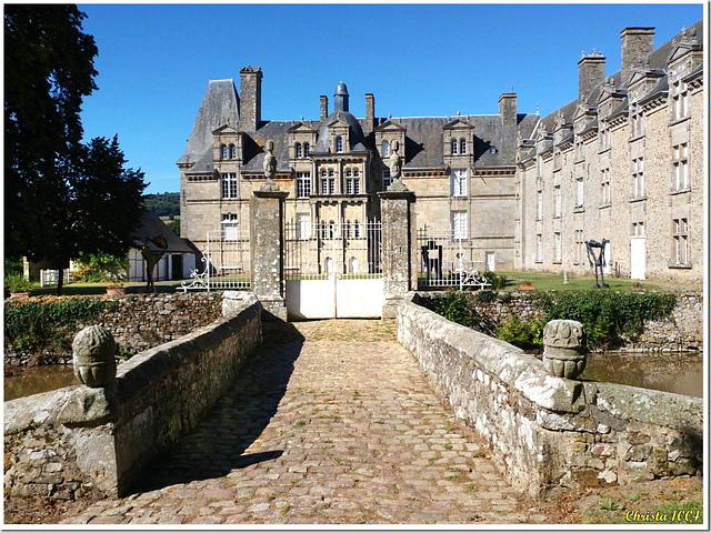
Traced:
<path id="1" fill-rule="evenodd" d="M 177 163 L 181 237 L 204 250 L 208 232 L 249 228 L 271 140 L 288 223 L 358 238 L 380 219 L 397 150 L 414 227 L 449 235 L 479 270 L 589 273 L 584 242 L 605 239 L 608 273 L 701 281 L 701 32 L 653 50 L 652 28 L 623 30 L 621 71 L 605 77 L 604 57 L 583 54 L 578 98 L 544 118 L 519 113 L 514 93 L 492 115 L 383 118 L 369 93 L 358 119 L 340 82 L 318 121 L 264 120 L 260 68 L 240 70 L 239 94 L 232 79 L 211 80 Z"/>

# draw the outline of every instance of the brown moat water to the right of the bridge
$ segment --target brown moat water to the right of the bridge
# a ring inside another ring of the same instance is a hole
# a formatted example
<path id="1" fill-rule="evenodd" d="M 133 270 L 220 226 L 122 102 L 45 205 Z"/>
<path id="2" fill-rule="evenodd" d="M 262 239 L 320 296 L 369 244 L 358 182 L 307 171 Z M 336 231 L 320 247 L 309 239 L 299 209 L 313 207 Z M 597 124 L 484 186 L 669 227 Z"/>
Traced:
<path id="1" fill-rule="evenodd" d="M 589 353 L 580 379 L 703 398 L 703 355 L 701 352 Z"/>

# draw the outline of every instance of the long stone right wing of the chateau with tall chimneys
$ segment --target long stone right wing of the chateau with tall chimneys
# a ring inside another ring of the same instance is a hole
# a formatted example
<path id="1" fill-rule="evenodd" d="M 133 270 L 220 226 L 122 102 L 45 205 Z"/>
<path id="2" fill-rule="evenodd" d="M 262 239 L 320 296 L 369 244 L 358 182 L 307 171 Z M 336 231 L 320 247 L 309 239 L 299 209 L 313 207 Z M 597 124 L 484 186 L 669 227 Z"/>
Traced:
<path id="1" fill-rule="evenodd" d="M 627 28 L 608 78 L 583 52 L 578 98 L 519 141 L 517 269 L 590 273 L 585 241 L 607 239 L 607 274 L 702 282 L 702 32 L 654 49 Z"/>

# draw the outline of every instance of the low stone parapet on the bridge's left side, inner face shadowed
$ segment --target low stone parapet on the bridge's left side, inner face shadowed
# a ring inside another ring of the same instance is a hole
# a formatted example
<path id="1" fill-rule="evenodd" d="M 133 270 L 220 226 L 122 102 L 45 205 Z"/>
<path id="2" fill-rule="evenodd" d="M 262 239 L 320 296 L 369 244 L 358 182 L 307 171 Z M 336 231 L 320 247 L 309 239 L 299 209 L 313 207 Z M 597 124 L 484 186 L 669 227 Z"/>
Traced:
<path id="1" fill-rule="evenodd" d="M 6 494 L 126 494 L 150 461 L 197 425 L 261 343 L 257 299 L 224 298 L 228 315 L 121 363 L 106 388 L 4 402 Z"/>

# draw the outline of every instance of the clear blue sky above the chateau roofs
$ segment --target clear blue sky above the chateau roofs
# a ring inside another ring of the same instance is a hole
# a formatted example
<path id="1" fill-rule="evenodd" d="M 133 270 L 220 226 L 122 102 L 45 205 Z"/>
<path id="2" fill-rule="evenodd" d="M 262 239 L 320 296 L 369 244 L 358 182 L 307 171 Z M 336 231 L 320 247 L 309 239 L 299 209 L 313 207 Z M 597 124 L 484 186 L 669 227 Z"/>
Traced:
<path id="1" fill-rule="evenodd" d="M 573 100 L 581 51 L 620 69 L 620 31 L 655 27 L 655 48 L 703 17 L 702 3 L 634 4 L 79 4 L 99 47 L 99 90 L 84 100 L 87 139 L 119 135 L 147 192 L 177 192 L 182 155 L 210 78 L 261 67 L 262 119 L 319 118 L 344 81 L 387 117 L 498 112 L 502 92 L 542 115 Z"/>

